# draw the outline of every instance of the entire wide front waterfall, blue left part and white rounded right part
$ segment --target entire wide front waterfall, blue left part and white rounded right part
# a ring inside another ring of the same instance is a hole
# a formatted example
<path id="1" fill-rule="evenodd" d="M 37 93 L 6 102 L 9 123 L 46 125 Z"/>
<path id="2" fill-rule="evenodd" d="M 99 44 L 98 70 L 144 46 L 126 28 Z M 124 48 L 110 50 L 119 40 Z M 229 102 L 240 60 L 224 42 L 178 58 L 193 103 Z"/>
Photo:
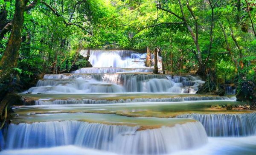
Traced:
<path id="1" fill-rule="evenodd" d="M 6 149 L 76 145 L 121 154 L 159 155 L 204 145 L 207 134 L 199 122 L 139 130 L 140 127 L 81 121 L 10 124 Z"/>

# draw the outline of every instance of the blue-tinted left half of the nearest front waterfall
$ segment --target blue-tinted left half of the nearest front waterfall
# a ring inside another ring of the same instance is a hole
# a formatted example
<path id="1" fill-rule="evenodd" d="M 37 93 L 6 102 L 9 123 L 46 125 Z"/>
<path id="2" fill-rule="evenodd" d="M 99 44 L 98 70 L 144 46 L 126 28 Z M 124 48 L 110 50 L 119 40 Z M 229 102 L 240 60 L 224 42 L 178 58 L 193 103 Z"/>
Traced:
<path id="1" fill-rule="evenodd" d="M 6 149 L 73 145 L 78 143 L 82 132 L 87 134 L 87 136 L 92 136 L 90 139 L 91 144 L 100 145 L 108 142 L 108 138 L 111 138 L 111 136 L 118 135 L 119 133 L 123 134 L 128 131 L 135 132 L 137 129 L 138 127 L 89 124 L 81 121 L 49 121 L 35 122 L 32 124 L 10 124 L 7 132 Z M 101 135 L 102 137 L 96 137 L 100 132 L 105 133 L 105 135 L 103 134 Z M 89 137 L 87 138 L 89 139 Z M 89 147 L 90 144 L 87 145 Z M 96 148 L 96 146 L 94 147 Z"/>

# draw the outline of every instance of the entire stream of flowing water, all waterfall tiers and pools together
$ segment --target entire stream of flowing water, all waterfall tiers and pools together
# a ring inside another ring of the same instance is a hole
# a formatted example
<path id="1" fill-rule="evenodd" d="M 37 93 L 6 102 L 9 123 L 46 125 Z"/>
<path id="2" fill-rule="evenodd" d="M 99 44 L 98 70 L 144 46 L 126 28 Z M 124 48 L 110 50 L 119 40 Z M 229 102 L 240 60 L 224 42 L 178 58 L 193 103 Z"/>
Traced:
<path id="1" fill-rule="evenodd" d="M 0 154 L 256 154 L 254 111 L 226 110 L 241 103 L 195 94 L 204 84 L 198 76 L 152 74 L 145 58 L 90 50 L 93 68 L 45 75 L 21 93 L 24 105 L 12 107 Z"/>

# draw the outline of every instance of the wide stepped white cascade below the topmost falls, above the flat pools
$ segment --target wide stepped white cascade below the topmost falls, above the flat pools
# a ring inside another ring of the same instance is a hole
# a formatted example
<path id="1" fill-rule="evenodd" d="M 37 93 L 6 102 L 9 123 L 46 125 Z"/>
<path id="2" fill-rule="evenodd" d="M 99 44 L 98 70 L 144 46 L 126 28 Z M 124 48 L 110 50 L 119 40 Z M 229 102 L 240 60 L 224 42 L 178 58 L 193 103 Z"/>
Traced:
<path id="1" fill-rule="evenodd" d="M 25 93 L 195 93 L 204 83 L 198 76 L 143 73 L 59 74 L 45 78 Z"/>

